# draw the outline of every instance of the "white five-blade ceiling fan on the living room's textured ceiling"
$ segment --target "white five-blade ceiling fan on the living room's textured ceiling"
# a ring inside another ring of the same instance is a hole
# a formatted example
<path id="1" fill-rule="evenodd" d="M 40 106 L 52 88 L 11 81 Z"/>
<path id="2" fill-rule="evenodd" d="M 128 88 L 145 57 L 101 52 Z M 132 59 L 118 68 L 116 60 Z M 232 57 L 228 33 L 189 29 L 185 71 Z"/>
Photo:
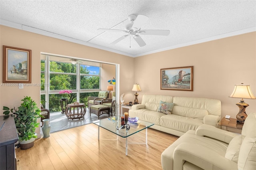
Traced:
<path id="1" fill-rule="evenodd" d="M 126 35 L 118 38 L 114 42 L 110 43 L 110 45 L 114 45 L 126 37 L 130 37 L 130 47 L 131 47 L 131 36 L 134 40 L 143 47 L 146 45 L 144 40 L 140 37 L 140 35 L 156 35 L 156 36 L 168 36 L 170 34 L 170 30 L 140 30 L 141 26 L 146 23 L 148 20 L 148 16 L 131 14 L 128 19 L 131 23 L 126 25 L 126 30 L 114 30 L 114 29 L 104 29 L 100 28 L 98 30 L 108 31 L 108 32 L 124 32 Z"/>

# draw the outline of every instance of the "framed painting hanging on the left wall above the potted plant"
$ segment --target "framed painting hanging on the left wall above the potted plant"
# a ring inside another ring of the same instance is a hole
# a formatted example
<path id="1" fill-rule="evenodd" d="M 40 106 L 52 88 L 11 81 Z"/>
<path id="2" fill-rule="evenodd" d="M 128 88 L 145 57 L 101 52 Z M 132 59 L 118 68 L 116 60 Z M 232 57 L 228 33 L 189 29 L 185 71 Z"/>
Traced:
<path id="1" fill-rule="evenodd" d="M 3 83 L 31 83 L 31 50 L 3 45 Z"/>

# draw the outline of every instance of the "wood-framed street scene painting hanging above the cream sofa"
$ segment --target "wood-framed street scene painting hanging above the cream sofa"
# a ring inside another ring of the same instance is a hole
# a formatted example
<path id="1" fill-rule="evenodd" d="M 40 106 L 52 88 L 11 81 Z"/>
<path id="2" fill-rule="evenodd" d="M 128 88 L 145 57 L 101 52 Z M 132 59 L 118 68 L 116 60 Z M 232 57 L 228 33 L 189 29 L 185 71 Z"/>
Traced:
<path id="1" fill-rule="evenodd" d="M 161 90 L 193 91 L 193 66 L 160 69 Z"/>

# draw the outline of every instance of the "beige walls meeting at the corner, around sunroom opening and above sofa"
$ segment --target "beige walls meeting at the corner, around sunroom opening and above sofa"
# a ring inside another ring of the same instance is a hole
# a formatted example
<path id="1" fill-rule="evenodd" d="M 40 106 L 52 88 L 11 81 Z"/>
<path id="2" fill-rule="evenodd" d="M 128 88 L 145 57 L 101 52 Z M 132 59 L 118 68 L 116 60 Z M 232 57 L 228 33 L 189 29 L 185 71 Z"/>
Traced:
<path id="1" fill-rule="evenodd" d="M 249 84 L 256 95 L 256 32 L 132 58 L 1 25 L 0 45 L 32 50 L 32 83 L 40 83 L 40 52 L 120 64 L 120 94 L 125 94 L 125 102 L 134 101 L 131 89 L 139 83 L 139 102 L 143 94 L 220 99 L 222 116 L 235 117 L 239 99 L 228 97 L 234 85 Z M 2 53 L 0 56 L 2 67 Z M 160 90 L 160 69 L 184 66 L 194 66 L 194 91 Z M 0 77 L 2 73 L 1 69 Z M 0 86 L 0 108 L 20 105 L 26 95 L 39 104 L 40 87 Z M 245 102 L 250 105 L 248 114 L 256 111 L 256 100 Z"/>

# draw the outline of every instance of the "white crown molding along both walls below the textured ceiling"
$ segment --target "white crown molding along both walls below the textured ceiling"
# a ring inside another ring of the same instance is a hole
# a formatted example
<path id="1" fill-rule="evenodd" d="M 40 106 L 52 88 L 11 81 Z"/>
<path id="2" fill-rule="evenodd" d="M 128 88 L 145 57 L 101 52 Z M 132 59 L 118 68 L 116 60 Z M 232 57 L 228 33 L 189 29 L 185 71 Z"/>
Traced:
<path id="1" fill-rule="evenodd" d="M 89 47 L 94 47 L 94 48 L 97 48 L 97 49 L 102 49 L 102 50 L 105 50 L 105 51 L 110 51 L 110 52 L 113 52 L 113 53 L 126 55 L 128 57 L 140 57 L 140 56 L 143 56 L 143 55 L 158 53 L 158 52 L 161 52 L 161 51 L 166 51 L 166 50 L 170 50 L 170 49 L 185 47 L 185 46 L 194 45 L 194 44 L 198 44 L 198 43 L 209 42 L 209 41 L 213 41 L 213 40 L 218 40 L 218 39 L 222 39 L 222 38 L 237 36 L 237 35 L 240 35 L 240 34 L 246 34 L 246 33 L 249 33 L 249 32 L 255 32 L 256 31 L 256 27 L 251 27 L 251 28 L 246 28 L 246 29 L 243 29 L 243 30 L 228 32 L 228 33 L 220 34 L 220 35 L 217 35 L 217 36 L 202 38 L 200 40 L 195 40 L 195 41 L 188 42 L 188 43 L 182 43 L 182 44 L 173 45 L 173 46 L 158 49 L 158 50 L 149 51 L 149 52 L 146 52 L 146 53 L 140 53 L 140 54 L 137 54 L 137 55 L 133 55 L 133 54 L 130 54 L 130 53 L 125 53 L 125 52 L 122 52 L 122 51 L 118 51 L 116 49 L 111 49 L 111 48 L 108 48 L 108 47 L 102 47 L 100 45 L 96 45 L 96 44 L 93 44 L 93 43 L 84 42 L 82 40 L 77 40 L 77 39 L 74 39 L 74 38 L 62 36 L 62 35 L 55 34 L 55 33 L 52 33 L 52 32 L 47 32 L 47 31 L 44 31 L 44 30 L 40 30 L 38 28 L 33 28 L 33 27 L 30 27 L 30 26 L 10 22 L 10 21 L 7 21 L 7 20 L 0 19 L 0 25 L 8 26 L 8 27 L 11 27 L 11 28 L 16 28 L 16 29 L 24 30 L 24 31 L 28 31 L 28 32 L 33 32 L 33 33 L 36 33 L 36 34 L 41 34 L 41 35 L 44 35 L 44 36 L 57 38 L 57 39 L 60 39 L 60 40 L 65 40 L 65 41 L 68 41 L 68 42 L 78 43 L 78 44 L 86 45 L 86 46 L 89 46 Z"/>

